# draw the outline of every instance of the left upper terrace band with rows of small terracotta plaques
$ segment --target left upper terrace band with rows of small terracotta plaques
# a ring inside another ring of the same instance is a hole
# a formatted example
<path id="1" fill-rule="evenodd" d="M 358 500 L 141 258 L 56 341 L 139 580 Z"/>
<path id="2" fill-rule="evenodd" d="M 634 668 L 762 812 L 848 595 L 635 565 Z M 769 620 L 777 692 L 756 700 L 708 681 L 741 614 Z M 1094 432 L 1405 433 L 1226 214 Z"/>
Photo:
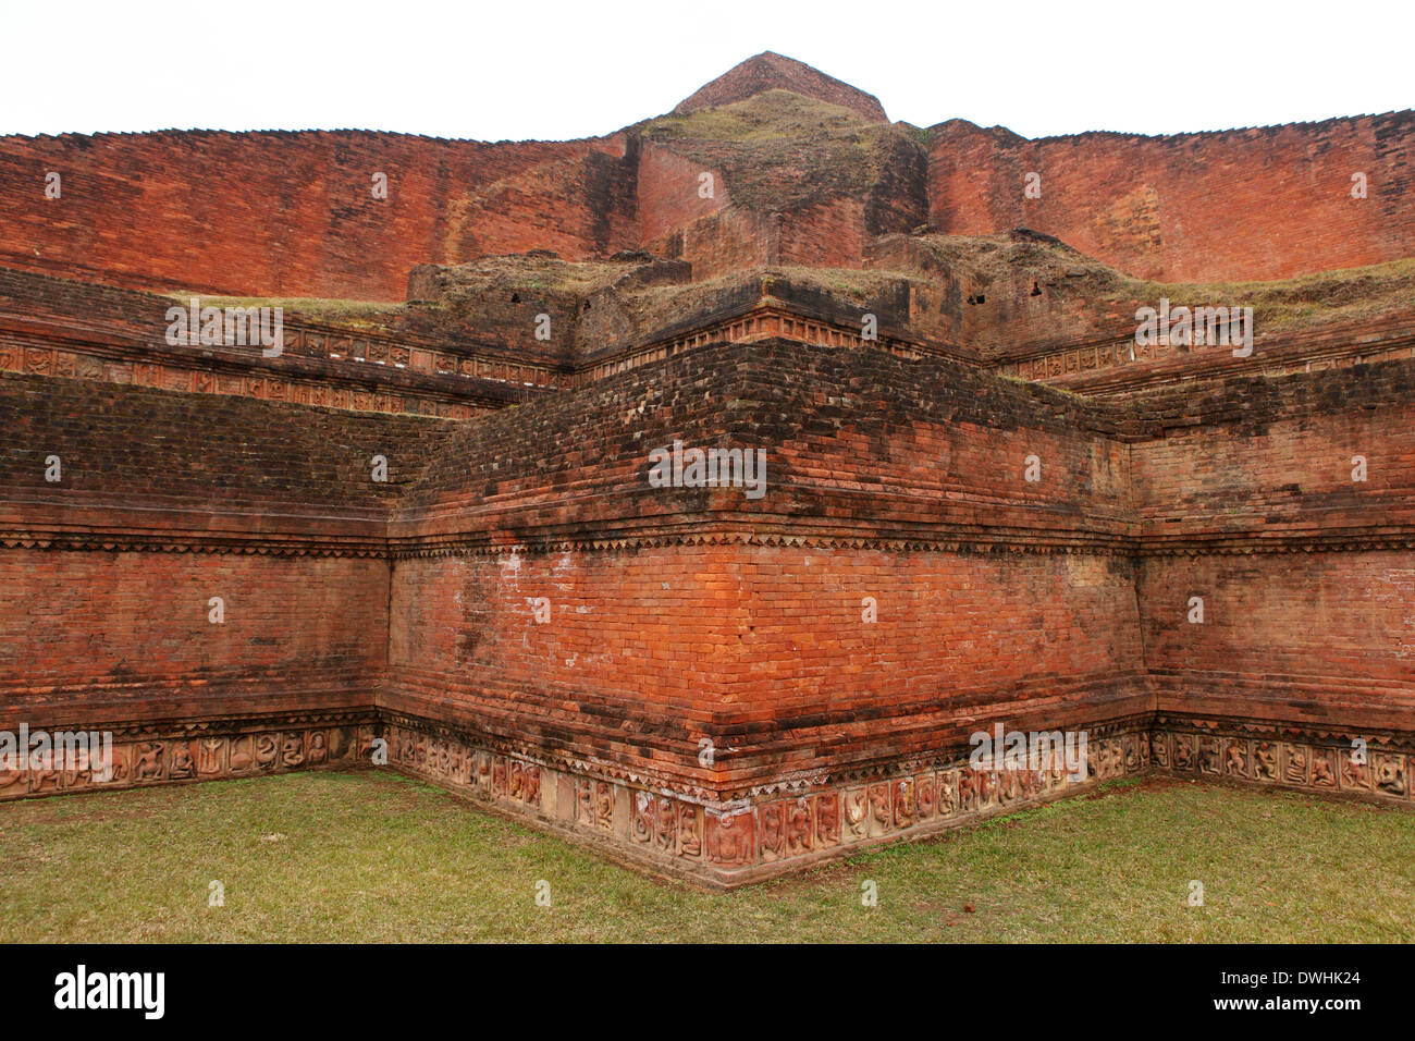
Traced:
<path id="1" fill-rule="evenodd" d="M 488 295 L 470 314 L 458 307 L 436 317 L 433 309 L 391 305 L 331 319 L 318 307 L 262 302 L 270 309 L 263 330 L 276 319 L 282 330 L 280 354 L 267 358 L 256 319 L 245 343 L 235 330 L 219 344 L 168 336 L 168 313 L 188 314 L 194 297 L 0 268 L 0 371 L 466 419 L 566 378 L 562 360 L 576 341 L 580 297 L 560 295 L 553 305 L 546 296 L 528 295 L 525 305 L 508 297 Z M 195 299 L 198 307 L 219 300 Z M 558 322 L 548 343 L 533 337 L 541 310 Z M 473 320 L 477 333 L 468 334 Z"/>

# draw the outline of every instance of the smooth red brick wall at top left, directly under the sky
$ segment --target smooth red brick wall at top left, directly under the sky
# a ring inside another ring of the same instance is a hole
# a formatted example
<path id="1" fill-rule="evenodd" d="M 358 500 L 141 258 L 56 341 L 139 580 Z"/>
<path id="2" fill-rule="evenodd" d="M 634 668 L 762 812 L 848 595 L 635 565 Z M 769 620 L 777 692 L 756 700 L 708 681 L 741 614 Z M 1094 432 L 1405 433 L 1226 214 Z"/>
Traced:
<path id="1" fill-rule="evenodd" d="M 400 300 L 409 269 L 457 262 L 477 195 L 505 178 L 621 140 L 449 142 L 333 132 L 160 132 L 0 139 L 0 263 L 99 282 L 252 296 Z M 44 197 L 45 173 L 62 198 Z M 572 163 L 570 173 L 579 174 Z M 388 174 L 386 200 L 371 193 Z M 545 246 L 545 222 L 589 246 L 584 193 L 566 176 L 499 187 L 498 251 Z M 519 214 L 519 231 L 512 221 Z"/>

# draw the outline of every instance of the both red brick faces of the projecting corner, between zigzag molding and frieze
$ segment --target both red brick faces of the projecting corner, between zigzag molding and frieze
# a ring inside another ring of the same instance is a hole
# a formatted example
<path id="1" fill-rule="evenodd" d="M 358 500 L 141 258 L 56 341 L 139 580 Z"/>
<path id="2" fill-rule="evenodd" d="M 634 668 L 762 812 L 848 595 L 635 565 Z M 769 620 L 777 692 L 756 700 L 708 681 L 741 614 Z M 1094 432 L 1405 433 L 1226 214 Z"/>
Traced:
<path id="1" fill-rule="evenodd" d="M 379 704 L 669 776 L 702 776 L 706 735 L 719 779 L 746 780 L 1143 712 L 1139 652 L 1131 565 L 1108 557 L 440 557 L 393 569 Z"/>

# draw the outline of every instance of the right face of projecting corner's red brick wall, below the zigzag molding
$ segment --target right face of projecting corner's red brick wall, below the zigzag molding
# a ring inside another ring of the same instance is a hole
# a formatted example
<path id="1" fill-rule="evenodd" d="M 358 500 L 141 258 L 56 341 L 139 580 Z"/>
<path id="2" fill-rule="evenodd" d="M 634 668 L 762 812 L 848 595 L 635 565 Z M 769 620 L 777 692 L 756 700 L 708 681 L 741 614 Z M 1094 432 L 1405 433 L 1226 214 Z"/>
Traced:
<path id="1" fill-rule="evenodd" d="M 750 547 L 726 578 L 739 642 L 722 742 L 741 746 L 723 758 L 743 773 L 884 762 L 966 745 L 995 721 L 1084 728 L 1150 707 L 1124 558 Z"/>

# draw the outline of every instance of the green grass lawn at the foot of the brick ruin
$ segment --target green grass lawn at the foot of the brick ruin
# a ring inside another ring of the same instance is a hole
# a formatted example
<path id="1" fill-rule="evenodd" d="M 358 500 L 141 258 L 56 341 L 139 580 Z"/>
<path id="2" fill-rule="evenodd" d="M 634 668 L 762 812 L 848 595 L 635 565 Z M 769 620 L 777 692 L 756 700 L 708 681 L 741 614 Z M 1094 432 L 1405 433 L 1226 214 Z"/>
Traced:
<path id="1" fill-rule="evenodd" d="M 1415 813 L 1190 782 L 1118 782 L 732 894 L 389 772 L 7 803 L 0 838 L 4 942 L 1415 940 Z"/>

